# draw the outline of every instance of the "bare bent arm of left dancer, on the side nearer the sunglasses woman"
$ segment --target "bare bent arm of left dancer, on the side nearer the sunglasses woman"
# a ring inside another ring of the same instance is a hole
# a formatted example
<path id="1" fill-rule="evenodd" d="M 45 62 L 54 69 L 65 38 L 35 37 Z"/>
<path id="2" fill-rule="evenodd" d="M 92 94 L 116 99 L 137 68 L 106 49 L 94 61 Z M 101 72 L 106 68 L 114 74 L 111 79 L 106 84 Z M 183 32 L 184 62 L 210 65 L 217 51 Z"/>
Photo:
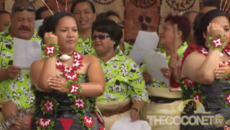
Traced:
<path id="1" fill-rule="evenodd" d="M 98 59 L 93 55 L 87 55 L 90 65 L 87 70 L 89 83 L 80 84 L 83 97 L 98 97 L 104 93 L 105 77 Z"/>

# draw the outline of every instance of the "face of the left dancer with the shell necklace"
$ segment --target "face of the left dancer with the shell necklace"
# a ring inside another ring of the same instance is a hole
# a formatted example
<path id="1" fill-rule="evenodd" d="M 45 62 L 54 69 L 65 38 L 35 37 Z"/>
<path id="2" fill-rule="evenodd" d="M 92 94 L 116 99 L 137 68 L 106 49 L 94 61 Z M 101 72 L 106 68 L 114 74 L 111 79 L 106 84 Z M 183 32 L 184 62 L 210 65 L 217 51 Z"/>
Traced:
<path id="1" fill-rule="evenodd" d="M 69 16 L 61 18 L 55 29 L 55 35 L 58 37 L 61 51 L 73 51 L 78 40 L 76 21 Z"/>

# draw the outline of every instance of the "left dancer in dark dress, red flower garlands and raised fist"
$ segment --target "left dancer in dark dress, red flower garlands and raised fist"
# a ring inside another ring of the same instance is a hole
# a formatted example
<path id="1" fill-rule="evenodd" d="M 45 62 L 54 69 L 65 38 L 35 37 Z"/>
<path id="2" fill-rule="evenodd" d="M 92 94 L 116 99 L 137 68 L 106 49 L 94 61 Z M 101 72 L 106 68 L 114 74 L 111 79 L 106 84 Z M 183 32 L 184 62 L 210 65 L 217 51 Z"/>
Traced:
<path id="1" fill-rule="evenodd" d="M 56 13 L 39 29 L 44 58 L 31 65 L 35 113 L 31 130 L 104 130 L 95 100 L 105 80 L 97 58 L 74 51 L 78 39 L 72 14 Z"/>

